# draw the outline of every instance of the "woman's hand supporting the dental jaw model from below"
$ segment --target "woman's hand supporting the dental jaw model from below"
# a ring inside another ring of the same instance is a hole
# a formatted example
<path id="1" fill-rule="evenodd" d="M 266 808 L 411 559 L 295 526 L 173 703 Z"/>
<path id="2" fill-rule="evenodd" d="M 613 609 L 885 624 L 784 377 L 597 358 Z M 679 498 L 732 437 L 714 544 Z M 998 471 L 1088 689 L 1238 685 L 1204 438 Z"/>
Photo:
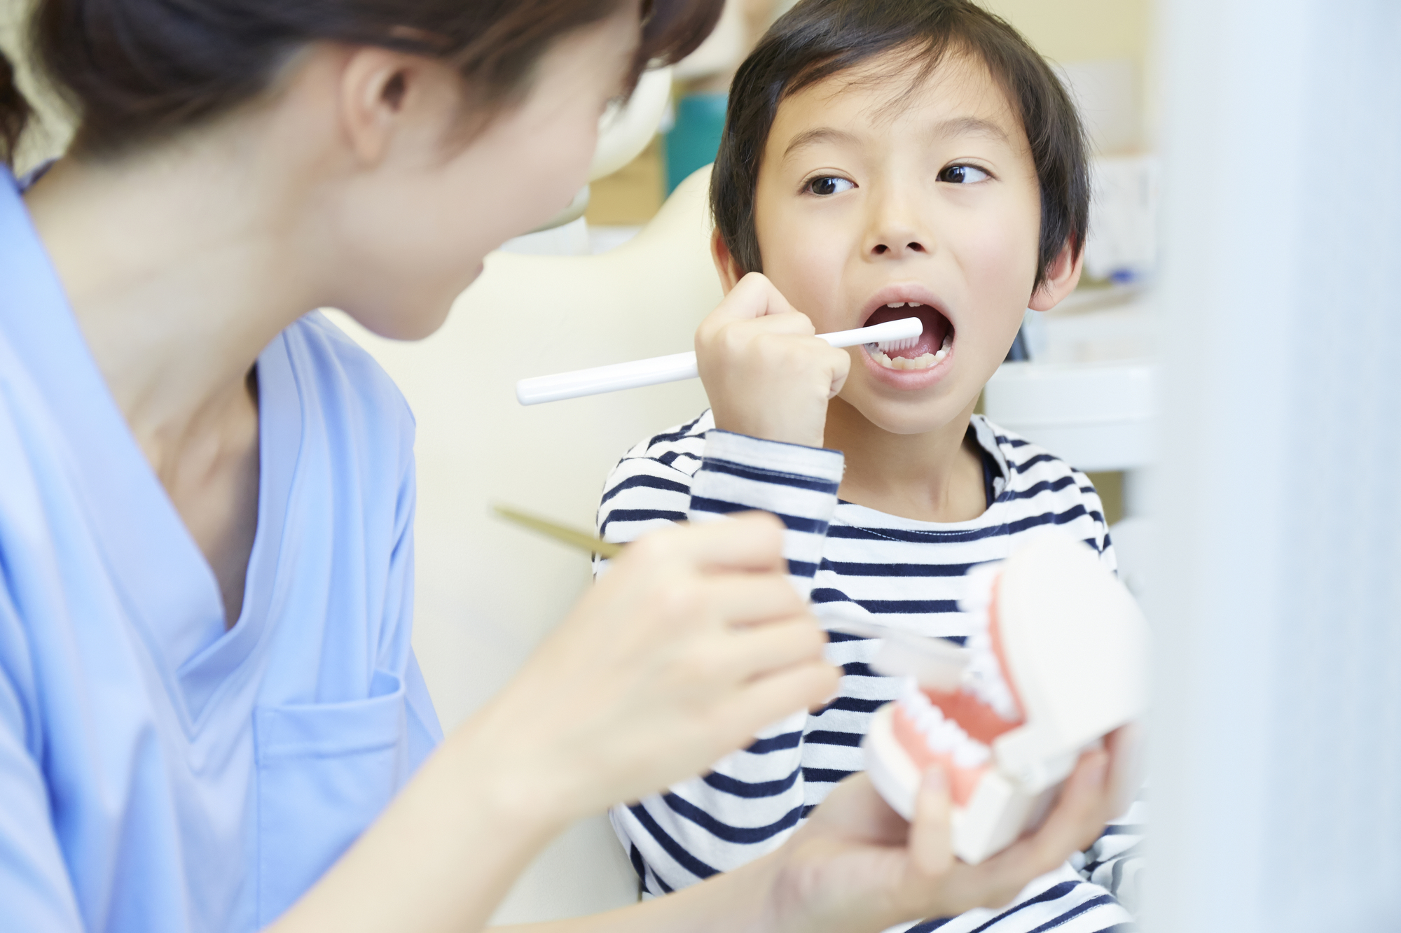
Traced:
<path id="1" fill-rule="evenodd" d="M 1009 904 L 1033 878 L 1089 846 L 1135 786 L 1132 727 L 1086 752 L 1035 832 L 986 862 L 953 855 L 941 773 L 926 775 L 915 821 L 892 811 L 866 775 L 842 782 L 787 843 L 768 856 L 772 885 L 757 929 L 883 930 L 922 918 Z"/>

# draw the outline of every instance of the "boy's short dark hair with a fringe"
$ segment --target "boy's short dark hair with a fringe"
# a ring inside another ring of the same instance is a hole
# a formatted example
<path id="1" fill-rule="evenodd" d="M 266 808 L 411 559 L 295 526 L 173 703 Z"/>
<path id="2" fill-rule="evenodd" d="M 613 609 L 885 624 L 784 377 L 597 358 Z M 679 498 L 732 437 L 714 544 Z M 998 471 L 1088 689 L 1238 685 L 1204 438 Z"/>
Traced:
<path id="1" fill-rule="evenodd" d="M 913 91 L 944 55 L 981 59 L 1021 119 L 1041 188 L 1035 287 L 1066 244 L 1079 256 L 1090 216 L 1084 130 L 1075 104 L 1035 49 L 971 0 L 803 0 L 759 39 L 730 85 L 730 111 L 710 175 L 710 209 L 747 272 L 762 269 L 754 191 L 779 104 L 877 55 L 909 50 Z"/>

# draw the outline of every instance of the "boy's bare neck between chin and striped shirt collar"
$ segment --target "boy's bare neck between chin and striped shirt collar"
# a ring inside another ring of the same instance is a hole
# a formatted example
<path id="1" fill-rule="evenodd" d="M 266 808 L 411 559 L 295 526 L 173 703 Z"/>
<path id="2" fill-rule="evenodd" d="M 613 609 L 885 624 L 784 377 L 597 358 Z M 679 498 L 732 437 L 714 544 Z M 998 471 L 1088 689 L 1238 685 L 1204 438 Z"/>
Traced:
<path id="1" fill-rule="evenodd" d="M 947 424 L 922 434 L 892 434 L 834 398 L 828 447 L 846 454 L 841 496 L 859 506 L 918 521 L 968 521 L 986 509 L 982 459 L 967 441 L 975 402 Z"/>

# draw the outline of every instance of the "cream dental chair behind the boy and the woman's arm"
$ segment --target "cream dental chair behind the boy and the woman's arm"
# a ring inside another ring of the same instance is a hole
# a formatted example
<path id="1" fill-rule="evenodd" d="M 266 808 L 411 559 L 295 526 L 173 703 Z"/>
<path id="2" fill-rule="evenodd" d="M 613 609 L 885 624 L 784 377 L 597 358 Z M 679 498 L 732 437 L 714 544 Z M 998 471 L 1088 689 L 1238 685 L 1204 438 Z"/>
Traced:
<path id="1" fill-rule="evenodd" d="M 500 689 L 588 584 L 588 558 L 490 514 L 502 502 L 593 528 L 604 478 L 635 443 L 706 406 L 677 382 L 523 408 L 516 380 L 691 349 L 722 298 L 710 263 L 709 168 L 636 237 L 597 256 L 493 252 L 419 343 L 328 312 L 370 350 L 417 419 L 415 649 L 444 728 Z M 497 922 L 636 901 L 607 817 L 586 820 L 517 884 Z"/>

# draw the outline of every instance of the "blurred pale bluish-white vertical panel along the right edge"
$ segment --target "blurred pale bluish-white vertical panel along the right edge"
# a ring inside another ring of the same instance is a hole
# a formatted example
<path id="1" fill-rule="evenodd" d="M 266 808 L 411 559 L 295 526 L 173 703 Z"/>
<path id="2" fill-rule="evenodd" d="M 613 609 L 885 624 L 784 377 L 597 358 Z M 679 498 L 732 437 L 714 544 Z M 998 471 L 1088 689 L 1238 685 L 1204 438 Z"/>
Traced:
<path id="1" fill-rule="evenodd" d="M 1401 930 L 1401 3 L 1160 25 L 1146 926 Z"/>

